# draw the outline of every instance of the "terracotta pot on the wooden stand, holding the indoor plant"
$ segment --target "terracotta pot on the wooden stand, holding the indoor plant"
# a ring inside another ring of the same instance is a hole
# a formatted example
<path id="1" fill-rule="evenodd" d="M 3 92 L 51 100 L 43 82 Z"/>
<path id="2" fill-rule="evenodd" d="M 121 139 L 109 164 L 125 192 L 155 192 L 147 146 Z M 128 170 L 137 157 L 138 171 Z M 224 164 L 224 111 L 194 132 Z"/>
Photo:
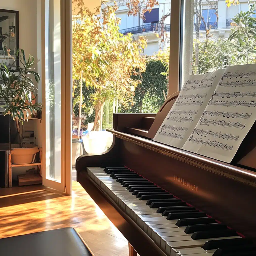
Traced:
<path id="1" fill-rule="evenodd" d="M 12 164 L 31 164 L 38 147 L 13 148 L 11 151 Z"/>

